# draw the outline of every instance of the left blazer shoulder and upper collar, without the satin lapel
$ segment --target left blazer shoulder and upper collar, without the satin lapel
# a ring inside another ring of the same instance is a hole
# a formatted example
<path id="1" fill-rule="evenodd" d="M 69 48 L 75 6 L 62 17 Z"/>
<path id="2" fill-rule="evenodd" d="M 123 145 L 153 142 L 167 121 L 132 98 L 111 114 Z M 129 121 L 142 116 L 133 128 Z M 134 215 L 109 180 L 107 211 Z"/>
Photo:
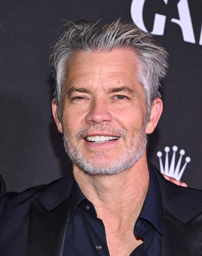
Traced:
<path id="1" fill-rule="evenodd" d="M 72 177 L 65 177 L 20 193 L 8 192 L 0 197 L 1 255 L 27 255 L 31 199 L 40 201 L 48 210 L 70 196 L 72 183 Z"/>

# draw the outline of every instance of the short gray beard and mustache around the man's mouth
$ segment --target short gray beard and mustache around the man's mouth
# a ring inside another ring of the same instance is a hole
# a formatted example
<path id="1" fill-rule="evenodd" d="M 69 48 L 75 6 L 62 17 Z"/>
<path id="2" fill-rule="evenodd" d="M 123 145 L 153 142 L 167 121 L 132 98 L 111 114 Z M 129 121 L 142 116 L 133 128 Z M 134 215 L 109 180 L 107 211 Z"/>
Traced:
<path id="1" fill-rule="evenodd" d="M 127 142 L 128 133 L 123 128 L 112 128 L 111 126 L 107 126 L 106 124 L 91 124 L 90 127 L 81 128 L 77 133 L 76 137 L 71 138 L 68 132 L 63 132 L 63 140 L 64 140 L 64 148 L 68 153 L 70 160 L 79 168 L 81 168 L 84 172 L 87 172 L 90 175 L 112 175 L 112 174 L 120 174 L 126 169 L 131 168 L 135 162 L 139 160 L 139 158 L 143 155 L 144 150 L 147 145 L 147 135 L 146 135 L 146 120 L 144 121 L 141 129 L 136 130 L 130 140 L 128 140 L 128 144 L 126 143 L 126 152 L 119 157 L 117 160 L 114 160 L 110 164 L 104 163 L 101 161 L 100 163 L 94 162 L 93 158 L 86 158 L 81 148 L 79 148 L 78 141 L 81 140 L 85 136 L 85 134 L 89 134 L 94 130 L 99 130 L 103 132 L 108 132 L 110 134 L 117 134 Z M 106 142 L 107 143 L 107 142 Z M 106 156 L 108 154 L 108 150 L 103 151 L 93 151 L 89 150 L 98 156 Z M 104 159 L 104 158 L 103 158 Z"/>

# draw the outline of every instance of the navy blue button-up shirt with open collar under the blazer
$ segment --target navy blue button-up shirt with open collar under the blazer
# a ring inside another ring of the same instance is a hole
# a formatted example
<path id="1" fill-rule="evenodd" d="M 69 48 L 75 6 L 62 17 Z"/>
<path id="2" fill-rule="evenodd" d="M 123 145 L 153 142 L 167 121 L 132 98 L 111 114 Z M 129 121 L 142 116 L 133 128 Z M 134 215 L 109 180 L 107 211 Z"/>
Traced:
<path id="1" fill-rule="evenodd" d="M 161 256 L 161 202 L 154 172 L 142 210 L 134 225 L 136 237 L 144 240 L 130 256 Z M 135 222 L 135 220 L 134 220 Z M 117 245 L 118 246 L 118 245 Z M 105 228 L 93 204 L 74 180 L 62 256 L 109 256 Z"/>

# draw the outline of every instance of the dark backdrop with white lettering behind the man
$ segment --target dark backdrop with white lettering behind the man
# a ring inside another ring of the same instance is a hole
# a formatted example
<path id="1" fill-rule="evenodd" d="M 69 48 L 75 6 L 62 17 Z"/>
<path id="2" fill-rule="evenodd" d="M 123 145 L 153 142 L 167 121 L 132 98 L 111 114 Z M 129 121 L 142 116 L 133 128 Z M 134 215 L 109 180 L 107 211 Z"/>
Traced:
<path id="1" fill-rule="evenodd" d="M 71 172 L 51 112 L 48 56 L 58 27 L 64 20 L 106 23 L 120 16 L 149 32 L 155 27 L 160 35 L 154 37 L 169 53 L 170 69 L 161 89 L 164 111 L 149 136 L 148 160 L 159 168 L 156 153 L 162 152 L 164 164 L 164 148 L 169 146 L 170 162 L 176 145 L 177 164 L 184 149 L 180 168 L 186 156 L 191 162 L 182 180 L 202 189 L 201 0 L 0 0 L 0 174 L 7 191 L 22 191 Z"/>

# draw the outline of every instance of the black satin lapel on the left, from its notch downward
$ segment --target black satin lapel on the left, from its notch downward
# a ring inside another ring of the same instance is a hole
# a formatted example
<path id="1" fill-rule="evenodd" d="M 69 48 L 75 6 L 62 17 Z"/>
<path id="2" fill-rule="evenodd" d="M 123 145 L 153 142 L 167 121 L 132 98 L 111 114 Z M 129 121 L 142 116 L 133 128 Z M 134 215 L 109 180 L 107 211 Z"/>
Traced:
<path id="1" fill-rule="evenodd" d="M 35 198 L 31 199 L 28 256 L 62 256 L 69 200 L 48 212 Z"/>

